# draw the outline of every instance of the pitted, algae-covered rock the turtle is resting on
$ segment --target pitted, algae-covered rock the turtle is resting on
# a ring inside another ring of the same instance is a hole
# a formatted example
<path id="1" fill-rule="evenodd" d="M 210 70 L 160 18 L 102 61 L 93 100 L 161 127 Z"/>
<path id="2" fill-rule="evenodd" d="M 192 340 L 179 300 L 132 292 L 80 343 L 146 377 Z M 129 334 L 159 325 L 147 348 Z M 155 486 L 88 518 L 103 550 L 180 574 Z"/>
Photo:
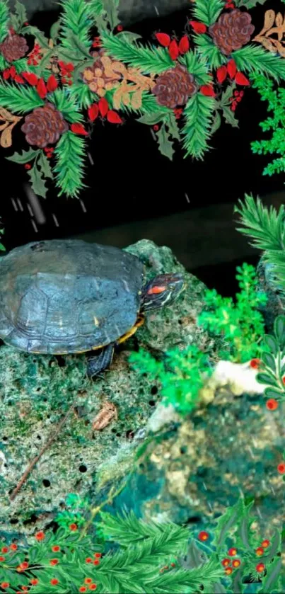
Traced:
<path id="1" fill-rule="evenodd" d="M 170 249 L 151 241 L 139 241 L 127 251 L 144 261 L 147 279 L 157 273 L 184 271 Z M 148 377 L 129 366 L 129 353 L 140 345 L 165 351 L 175 345 L 184 348 L 194 343 L 203 348 L 211 344 L 196 326 L 206 287 L 191 274 L 185 273 L 185 278 L 187 287 L 175 304 L 151 313 L 134 338 L 120 346 L 110 370 L 95 381 L 86 377 L 85 355 L 55 358 L 1 346 L 2 532 L 33 533 L 52 520 L 66 493 L 84 497 L 96 491 L 100 474 L 100 481 L 112 482 L 128 471 L 136 444 L 134 433 L 144 428 L 160 399 Z M 96 430 L 94 421 L 107 403 L 117 414 L 110 415 L 103 430 Z M 13 489 L 31 463 L 21 490 L 11 501 Z"/>

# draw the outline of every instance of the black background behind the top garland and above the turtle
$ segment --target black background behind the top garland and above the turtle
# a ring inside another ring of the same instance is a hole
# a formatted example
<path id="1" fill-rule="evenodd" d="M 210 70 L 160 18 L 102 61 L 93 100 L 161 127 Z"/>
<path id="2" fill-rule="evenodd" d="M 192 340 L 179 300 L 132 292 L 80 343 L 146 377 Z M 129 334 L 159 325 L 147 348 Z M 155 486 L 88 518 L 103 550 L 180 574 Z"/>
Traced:
<path id="1" fill-rule="evenodd" d="M 281 2 L 269 1 L 252 9 L 255 33 L 262 29 L 268 8 L 285 13 Z M 48 34 L 56 18 L 54 11 L 37 13 L 30 23 Z M 153 33 L 158 30 L 170 35 L 176 33 L 180 38 L 190 19 L 190 11 L 180 11 L 136 23 L 129 29 L 140 33 L 145 41 L 152 41 Z M 248 241 L 233 229 L 233 205 L 238 198 L 243 199 L 245 193 L 267 198 L 269 195 L 269 203 L 270 195 L 281 193 L 279 202 L 283 202 L 285 181 L 283 174 L 272 178 L 262 176 L 269 158 L 254 155 L 250 150 L 250 142 L 265 137 L 259 122 L 267 117 L 267 103 L 260 101 L 257 91 L 245 88 L 236 117 L 240 127 L 232 128 L 223 122 L 211 139 L 212 149 L 204 161 L 185 159 L 177 141 L 173 161 L 163 157 L 151 135 L 151 127 L 136 123 L 132 118 L 127 118 L 122 126 L 98 121 L 90 142 L 93 164 L 87 161 L 86 184 L 89 187 L 82 192 L 81 200 L 59 198 L 56 189 L 51 188 L 45 200 L 40 198 L 45 222 L 36 222 L 36 227 L 23 187 L 28 176 L 22 166 L 6 161 L 8 152 L 1 149 L 2 184 L 8 181 L 7 189 L 2 192 L 0 213 L 6 249 L 37 239 L 85 234 L 90 241 L 124 246 L 133 239 L 142 239 L 141 232 L 146 227 L 141 222 L 151 219 L 144 236 L 156 241 L 159 235 L 160 243 L 170 245 L 178 257 L 183 252 L 182 261 L 188 270 L 207 285 L 232 295 L 237 288 L 235 266 L 244 260 L 256 263 L 258 259 L 256 251 L 248 251 L 248 257 L 243 257 Z M 27 148 L 21 132 L 14 137 L 16 142 L 9 154 Z M 223 208 L 223 205 L 231 208 Z M 191 212 L 193 221 L 197 221 L 192 227 Z M 212 217 L 210 235 L 207 230 L 209 212 Z M 189 229 L 185 221 L 190 222 Z M 221 240 L 226 256 L 220 251 L 215 259 L 213 254 Z M 240 246 L 243 246 L 241 251 Z M 204 253 L 201 261 L 199 253 Z"/>

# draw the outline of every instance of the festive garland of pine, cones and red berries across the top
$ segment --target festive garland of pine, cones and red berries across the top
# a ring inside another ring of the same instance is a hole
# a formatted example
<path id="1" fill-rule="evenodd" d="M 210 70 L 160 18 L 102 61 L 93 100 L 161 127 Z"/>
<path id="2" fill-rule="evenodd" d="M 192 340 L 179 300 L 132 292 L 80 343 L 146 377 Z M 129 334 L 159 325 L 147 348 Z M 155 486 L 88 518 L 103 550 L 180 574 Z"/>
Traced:
<path id="1" fill-rule="evenodd" d="M 235 110 L 253 72 L 285 79 L 280 55 L 250 42 L 257 0 L 196 0 L 181 38 L 157 32 L 155 42 L 122 30 L 118 0 L 60 4 L 46 38 L 18 0 L 11 15 L 0 1 L 0 144 L 9 149 L 21 127 L 29 148 L 7 159 L 25 166 L 42 197 L 47 180 L 69 197 L 86 187 L 98 118 L 122 125 L 134 113 L 153 127 L 161 154 L 173 159 L 178 141 L 185 157 L 203 159 L 221 115 L 238 127 Z"/>

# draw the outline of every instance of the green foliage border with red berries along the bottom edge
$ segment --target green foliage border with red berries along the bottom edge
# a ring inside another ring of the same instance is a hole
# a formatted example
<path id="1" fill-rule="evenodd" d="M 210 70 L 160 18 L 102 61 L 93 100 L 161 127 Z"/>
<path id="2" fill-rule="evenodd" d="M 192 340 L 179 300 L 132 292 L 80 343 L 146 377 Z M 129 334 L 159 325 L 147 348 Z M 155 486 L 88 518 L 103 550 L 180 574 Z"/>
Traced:
<path id="1" fill-rule="evenodd" d="M 252 504 L 240 498 L 210 532 L 101 510 L 93 522 L 104 545 L 74 522 L 37 532 L 28 546 L 2 542 L 0 586 L 7 593 L 212 594 L 245 593 L 255 582 L 257 593 L 271 593 L 281 584 L 281 534 L 257 538 L 250 530 Z"/>

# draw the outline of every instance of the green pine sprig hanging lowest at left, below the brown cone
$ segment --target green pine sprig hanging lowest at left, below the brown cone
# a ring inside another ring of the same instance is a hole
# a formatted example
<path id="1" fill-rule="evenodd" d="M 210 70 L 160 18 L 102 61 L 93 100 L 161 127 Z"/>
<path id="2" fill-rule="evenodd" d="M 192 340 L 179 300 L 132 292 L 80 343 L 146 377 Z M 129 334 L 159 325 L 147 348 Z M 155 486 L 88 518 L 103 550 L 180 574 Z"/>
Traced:
<path id="1" fill-rule="evenodd" d="M 57 158 L 54 173 L 60 190 L 59 196 L 66 194 L 70 198 L 78 198 L 80 191 L 86 188 L 82 181 L 85 153 L 86 143 L 83 138 L 70 131 L 62 135 L 54 151 Z"/>

